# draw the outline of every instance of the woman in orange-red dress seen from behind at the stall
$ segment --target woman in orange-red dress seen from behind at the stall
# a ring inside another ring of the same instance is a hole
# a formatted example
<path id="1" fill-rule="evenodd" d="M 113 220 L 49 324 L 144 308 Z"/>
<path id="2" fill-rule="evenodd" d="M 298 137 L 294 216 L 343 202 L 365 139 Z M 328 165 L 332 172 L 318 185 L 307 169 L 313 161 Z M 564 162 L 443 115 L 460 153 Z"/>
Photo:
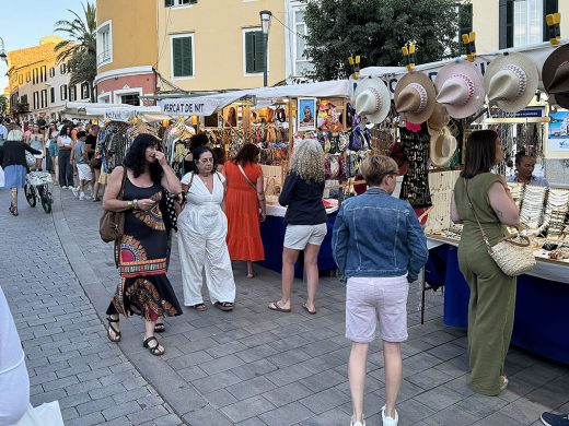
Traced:
<path id="1" fill-rule="evenodd" d="M 225 163 L 228 193 L 228 248 L 231 260 L 247 262 L 247 277 L 255 276 L 253 262 L 265 259 L 259 222 L 265 220 L 265 179 L 257 164 L 259 149 L 245 144 L 232 162 Z"/>

